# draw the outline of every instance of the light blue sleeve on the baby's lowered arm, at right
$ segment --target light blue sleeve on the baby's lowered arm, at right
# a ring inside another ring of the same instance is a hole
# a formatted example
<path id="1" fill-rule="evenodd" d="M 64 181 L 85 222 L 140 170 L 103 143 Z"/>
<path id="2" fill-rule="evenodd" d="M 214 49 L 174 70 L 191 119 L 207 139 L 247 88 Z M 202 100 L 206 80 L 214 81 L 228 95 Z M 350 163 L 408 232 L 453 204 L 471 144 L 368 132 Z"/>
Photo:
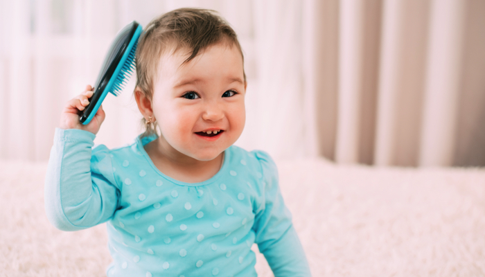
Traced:
<path id="1" fill-rule="evenodd" d="M 265 152 L 256 152 L 263 175 L 262 199 L 256 210 L 254 231 L 274 276 L 311 276 L 303 247 L 294 230 L 278 184 L 274 161 Z"/>

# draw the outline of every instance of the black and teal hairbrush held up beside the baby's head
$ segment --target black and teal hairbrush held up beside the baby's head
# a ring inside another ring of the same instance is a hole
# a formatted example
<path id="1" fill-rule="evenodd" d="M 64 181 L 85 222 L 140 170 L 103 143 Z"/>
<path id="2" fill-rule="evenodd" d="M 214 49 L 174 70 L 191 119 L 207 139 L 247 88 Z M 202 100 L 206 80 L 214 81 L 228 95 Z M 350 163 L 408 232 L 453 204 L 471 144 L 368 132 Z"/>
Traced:
<path id="1" fill-rule="evenodd" d="M 125 87 L 127 78 L 135 70 L 134 55 L 141 32 L 141 25 L 133 21 L 116 35 L 98 74 L 89 105 L 80 111 L 82 124 L 86 125 L 93 119 L 108 92 L 118 96 Z"/>

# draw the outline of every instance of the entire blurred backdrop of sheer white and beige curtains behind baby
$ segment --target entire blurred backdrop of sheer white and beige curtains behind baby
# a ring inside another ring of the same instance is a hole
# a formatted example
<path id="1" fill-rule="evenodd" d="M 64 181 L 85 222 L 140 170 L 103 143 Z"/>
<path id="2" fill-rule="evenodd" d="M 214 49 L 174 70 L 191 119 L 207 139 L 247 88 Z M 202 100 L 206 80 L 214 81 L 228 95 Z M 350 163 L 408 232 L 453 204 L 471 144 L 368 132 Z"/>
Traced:
<path id="1" fill-rule="evenodd" d="M 483 0 L 0 0 L 0 159 L 44 161 L 110 42 L 180 7 L 218 10 L 245 53 L 236 145 L 275 158 L 485 166 Z M 134 78 L 95 143 L 141 132 Z"/>

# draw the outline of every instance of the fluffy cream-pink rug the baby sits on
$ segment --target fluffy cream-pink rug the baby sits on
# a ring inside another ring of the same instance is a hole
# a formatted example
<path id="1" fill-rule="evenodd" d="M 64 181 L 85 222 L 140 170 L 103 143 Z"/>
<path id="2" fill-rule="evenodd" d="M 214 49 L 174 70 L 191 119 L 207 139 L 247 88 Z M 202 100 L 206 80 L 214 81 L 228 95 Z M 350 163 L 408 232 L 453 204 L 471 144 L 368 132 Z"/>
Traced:
<path id="1" fill-rule="evenodd" d="M 484 168 L 277 164 L 313 276 L 485 276 Z M 45 170 L 0 161 L 0 276 L 105 276 L 105 225 L 54 229 Z M 256 270 L 272 276 L 261 254 Z"/>

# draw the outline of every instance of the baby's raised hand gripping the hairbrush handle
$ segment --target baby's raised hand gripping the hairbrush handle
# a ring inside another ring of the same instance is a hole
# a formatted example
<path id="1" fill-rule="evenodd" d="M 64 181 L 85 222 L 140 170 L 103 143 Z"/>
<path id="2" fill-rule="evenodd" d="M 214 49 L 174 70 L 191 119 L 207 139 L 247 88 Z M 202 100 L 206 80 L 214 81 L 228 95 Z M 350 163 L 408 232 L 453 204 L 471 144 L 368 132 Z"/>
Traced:
<path id="1" fill-rule="evenodd" d="M 60 128 L 61 129 L 82 129 L 89 131 L 93 134 L 97 134 L 101 123 L 105 120 L 105 111 L 103 111 L 103 105 L 100 105 L 98 111 L 94 115 L 94 118 L 87 125 L 82 125 L 79 121 L 79 111 L 85 109 L 89 104 L 88 98 L 93 96 L 92 87 L 88 84 L 86 90 L 75 98 L 67 102 L 66 107 L 62 110 Z"/>

